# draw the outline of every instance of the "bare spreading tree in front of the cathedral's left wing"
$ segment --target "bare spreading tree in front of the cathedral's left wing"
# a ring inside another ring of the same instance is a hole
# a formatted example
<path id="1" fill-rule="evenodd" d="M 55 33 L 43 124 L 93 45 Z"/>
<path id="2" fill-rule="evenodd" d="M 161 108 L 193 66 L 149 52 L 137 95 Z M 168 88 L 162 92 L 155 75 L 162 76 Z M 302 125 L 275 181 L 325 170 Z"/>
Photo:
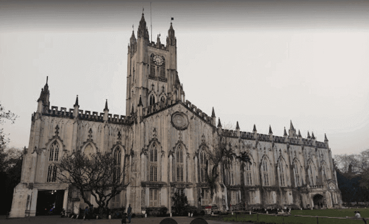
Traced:
<path id="1" fill-rule="evenodd" d="M 125 165 L 118 166 L 110 153 L 84 154 L 75 151 L 60 160 L 58 169 L 59 181 L 77 188 L 89 206 L 92 204 L 86 193 L 91 192 L 100 212 L 108 207 L 109 201 L 124 186 Z"/>

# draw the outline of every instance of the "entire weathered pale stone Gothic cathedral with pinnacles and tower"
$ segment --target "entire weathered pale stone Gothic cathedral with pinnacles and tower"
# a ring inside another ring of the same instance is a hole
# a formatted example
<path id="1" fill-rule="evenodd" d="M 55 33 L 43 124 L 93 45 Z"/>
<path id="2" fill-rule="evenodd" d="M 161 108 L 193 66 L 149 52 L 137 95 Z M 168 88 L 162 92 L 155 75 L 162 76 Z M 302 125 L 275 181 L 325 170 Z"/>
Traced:
<path id="1" fill-rule="evenodd" d="M 128 46 L 126 115 L 81 110 L 78 96 L 72 108 L 50 106 L 48 81 L 32 114 L 29 145 L 23 159 L 21 182 L 14 189 L 10 217 L 42 214 L 48 207 L 78 213 L 86 203 L 76 189 L 58 182 L 56 164 L 75 150 L 109 152 L 121 169 L 124 185 L 110 202 L 111 209 L 145 213 L 153 208 L 172 212 L 173 195 L 184 193 L 199 209 L 336 208 L 342 205 L 329 143 L 316 141 L 290 123 L 283 136 L 222 128 L 211 116 L 185 99 L 177 71 L 177 39 L 172 23 L 167 42 L 149 41 L 144 14 L 137 36 Z M 219 165 L 211 197 L 207 152 L 219 137 L 227 138 L 236 155 Z M 94 197 L 91 202 L 95 203 Z"/>

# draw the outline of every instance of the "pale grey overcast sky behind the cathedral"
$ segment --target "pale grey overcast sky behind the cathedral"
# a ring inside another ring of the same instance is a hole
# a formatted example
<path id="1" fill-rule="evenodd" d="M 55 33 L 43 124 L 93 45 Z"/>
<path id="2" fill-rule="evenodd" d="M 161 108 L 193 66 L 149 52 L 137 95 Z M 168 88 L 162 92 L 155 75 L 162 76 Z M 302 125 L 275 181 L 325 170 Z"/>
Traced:
<path id="1" fill-rule="evenodd" d="M 150 2 L 0 1 L 0 102 L 9 146 L 28 147 L 49 76 L 52 106 L 126 115 L 127 46 Z M 283 136 L 292 120 L 332 153 L 369 149 L 369 3 L 152 1 L 152 40 L 171 17 L 186 100 L 222 124 Z"/>

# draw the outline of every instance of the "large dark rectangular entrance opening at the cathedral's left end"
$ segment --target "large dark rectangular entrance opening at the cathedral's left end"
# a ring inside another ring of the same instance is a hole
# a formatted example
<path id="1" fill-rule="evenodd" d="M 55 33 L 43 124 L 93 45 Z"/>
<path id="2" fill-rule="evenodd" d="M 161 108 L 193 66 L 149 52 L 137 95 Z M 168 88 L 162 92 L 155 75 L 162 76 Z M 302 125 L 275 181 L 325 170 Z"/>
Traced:
<path id="1" fill-rule="evenodd" d="M 37 193 L 36 215 L 56 215 L 63 209 L 64 190 L 39 190 Z"/>

